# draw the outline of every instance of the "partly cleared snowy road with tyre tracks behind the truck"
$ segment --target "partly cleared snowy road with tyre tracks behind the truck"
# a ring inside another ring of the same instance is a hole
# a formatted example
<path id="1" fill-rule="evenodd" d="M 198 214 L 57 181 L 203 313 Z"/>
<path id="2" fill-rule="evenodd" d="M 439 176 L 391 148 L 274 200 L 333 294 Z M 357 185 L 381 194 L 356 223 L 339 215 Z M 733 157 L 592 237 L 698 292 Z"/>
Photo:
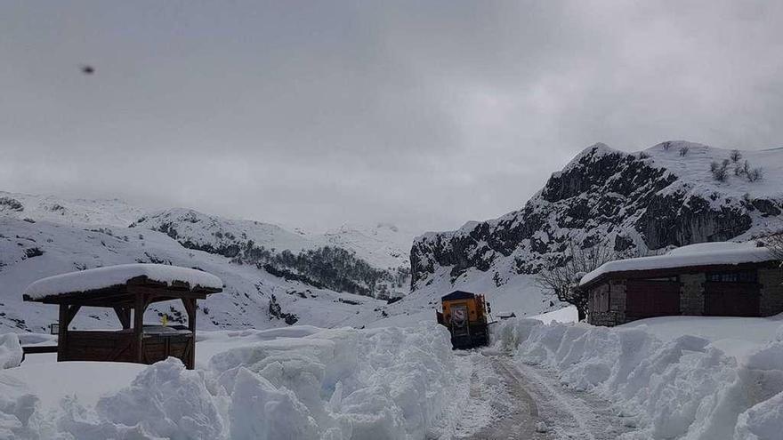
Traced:
<path id="1" fill-rule="evenodd" d="M 609 440 L 632 429 L 609 402 L 563 388 L 552 372 L 488 352 L 460 362 L 471 369 L 470 391 L 441 438 Z"/>

